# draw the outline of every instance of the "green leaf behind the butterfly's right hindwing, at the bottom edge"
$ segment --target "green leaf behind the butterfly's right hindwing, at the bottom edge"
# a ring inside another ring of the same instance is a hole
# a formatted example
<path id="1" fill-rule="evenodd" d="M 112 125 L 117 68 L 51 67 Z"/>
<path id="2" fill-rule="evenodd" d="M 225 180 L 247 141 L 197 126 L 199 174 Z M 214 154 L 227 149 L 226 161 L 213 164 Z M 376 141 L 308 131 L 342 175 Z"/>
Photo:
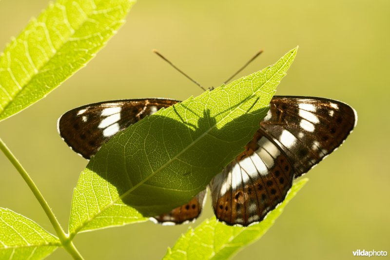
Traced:
<path id="1" fill-rule="evenodd" d="M 283 212 L 284 207 L 306 184 L 308 179 L 295 182 L 286 199 L 279 204 L 266 219 L 249 227 L 227 226 L 215 220 L 204 220 L 195 229 L 190 228 L 182 235 L 175 246 L 164 257 L 174 259 L 228 259 L 238 250 L 260 239 Z"/>

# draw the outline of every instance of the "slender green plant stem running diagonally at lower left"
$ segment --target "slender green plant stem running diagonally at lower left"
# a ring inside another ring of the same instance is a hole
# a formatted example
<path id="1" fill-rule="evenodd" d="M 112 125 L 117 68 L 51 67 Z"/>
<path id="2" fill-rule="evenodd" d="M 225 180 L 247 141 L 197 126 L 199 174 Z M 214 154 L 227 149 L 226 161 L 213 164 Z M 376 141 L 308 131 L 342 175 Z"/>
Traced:
<path id="1" fill-rule="evenodd" d="M 5 145 L 5 143 L 3 142 L 3 140 L 1 140 L 1 138 L 0 138 L 0 150 L 4 153 L 4 155 L 8 158 L 8 160 L 11 161 L 14 167 L 18 170 L 23 180 L 27 183 L 28 187 L 33 192 L 35 198 L 37 198 L 40 206 L 43 208 L 44 212 L 46 213 L 47 217 L 52 223 L 52 226 L 56 231 L 57 236 L 59 237 L 59 240 L 61 241 L 61 244 L 63 245 L 65 250 L 68 251 L 68 253 L 71 254 L 74 259 L 83 259 L 80 253 L 77 251 L 73 242 L 69 240 L 68 236 L 65 234 L 56 216 L 54 216 L 53 211 L 50 209 L 49 205 L 47 204 L 47 201 L 43 198 L 42 194 L 40 193 L 37 185 L 35 185 L 34 181 L 30 178 L 27 171 L 23 168 L 19 160 L 16 159 L 14 154 L 7 147 L 7 145 Z"/>

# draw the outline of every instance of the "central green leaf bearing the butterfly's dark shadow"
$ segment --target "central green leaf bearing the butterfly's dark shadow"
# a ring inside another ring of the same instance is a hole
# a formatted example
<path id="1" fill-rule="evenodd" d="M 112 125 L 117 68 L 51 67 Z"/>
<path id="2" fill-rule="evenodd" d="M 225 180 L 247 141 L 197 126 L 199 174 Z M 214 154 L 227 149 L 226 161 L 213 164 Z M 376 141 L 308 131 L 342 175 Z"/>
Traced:
<path id="1" fill-rule="evenodd" d="M 70 232 L 102 228 L 100 217 L 124 224 L 118 205 L 156 216 L 204 190 L 253 138 L 296 50 L 263 71 L 161 109 L 109 140 L 78 180 Z"/>

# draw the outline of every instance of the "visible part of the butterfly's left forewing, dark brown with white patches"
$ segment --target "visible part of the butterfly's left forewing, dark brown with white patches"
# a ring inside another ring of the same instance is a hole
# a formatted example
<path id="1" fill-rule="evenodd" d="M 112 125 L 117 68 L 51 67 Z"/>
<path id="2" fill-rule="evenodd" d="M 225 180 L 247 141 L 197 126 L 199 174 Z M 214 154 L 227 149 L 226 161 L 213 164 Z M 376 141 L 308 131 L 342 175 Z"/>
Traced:
<path id="1" fill-rule="evenodd" d="M 59 118 L 62 139 L 86 159 L 118 132 L 177 100 L 141 99 L 99 102 L 69 110 Z"/>

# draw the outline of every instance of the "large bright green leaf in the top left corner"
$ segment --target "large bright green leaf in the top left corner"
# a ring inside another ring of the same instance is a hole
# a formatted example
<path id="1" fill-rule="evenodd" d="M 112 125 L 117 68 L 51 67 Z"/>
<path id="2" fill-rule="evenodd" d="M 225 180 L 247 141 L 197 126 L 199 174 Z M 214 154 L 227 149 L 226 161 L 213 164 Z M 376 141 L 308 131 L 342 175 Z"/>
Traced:
<path id="1" fill-rule="evenodd" d="M 133 0 L 58 0 L 0 55 L 0 120 L 32 105 L 95 57 Z"/>

